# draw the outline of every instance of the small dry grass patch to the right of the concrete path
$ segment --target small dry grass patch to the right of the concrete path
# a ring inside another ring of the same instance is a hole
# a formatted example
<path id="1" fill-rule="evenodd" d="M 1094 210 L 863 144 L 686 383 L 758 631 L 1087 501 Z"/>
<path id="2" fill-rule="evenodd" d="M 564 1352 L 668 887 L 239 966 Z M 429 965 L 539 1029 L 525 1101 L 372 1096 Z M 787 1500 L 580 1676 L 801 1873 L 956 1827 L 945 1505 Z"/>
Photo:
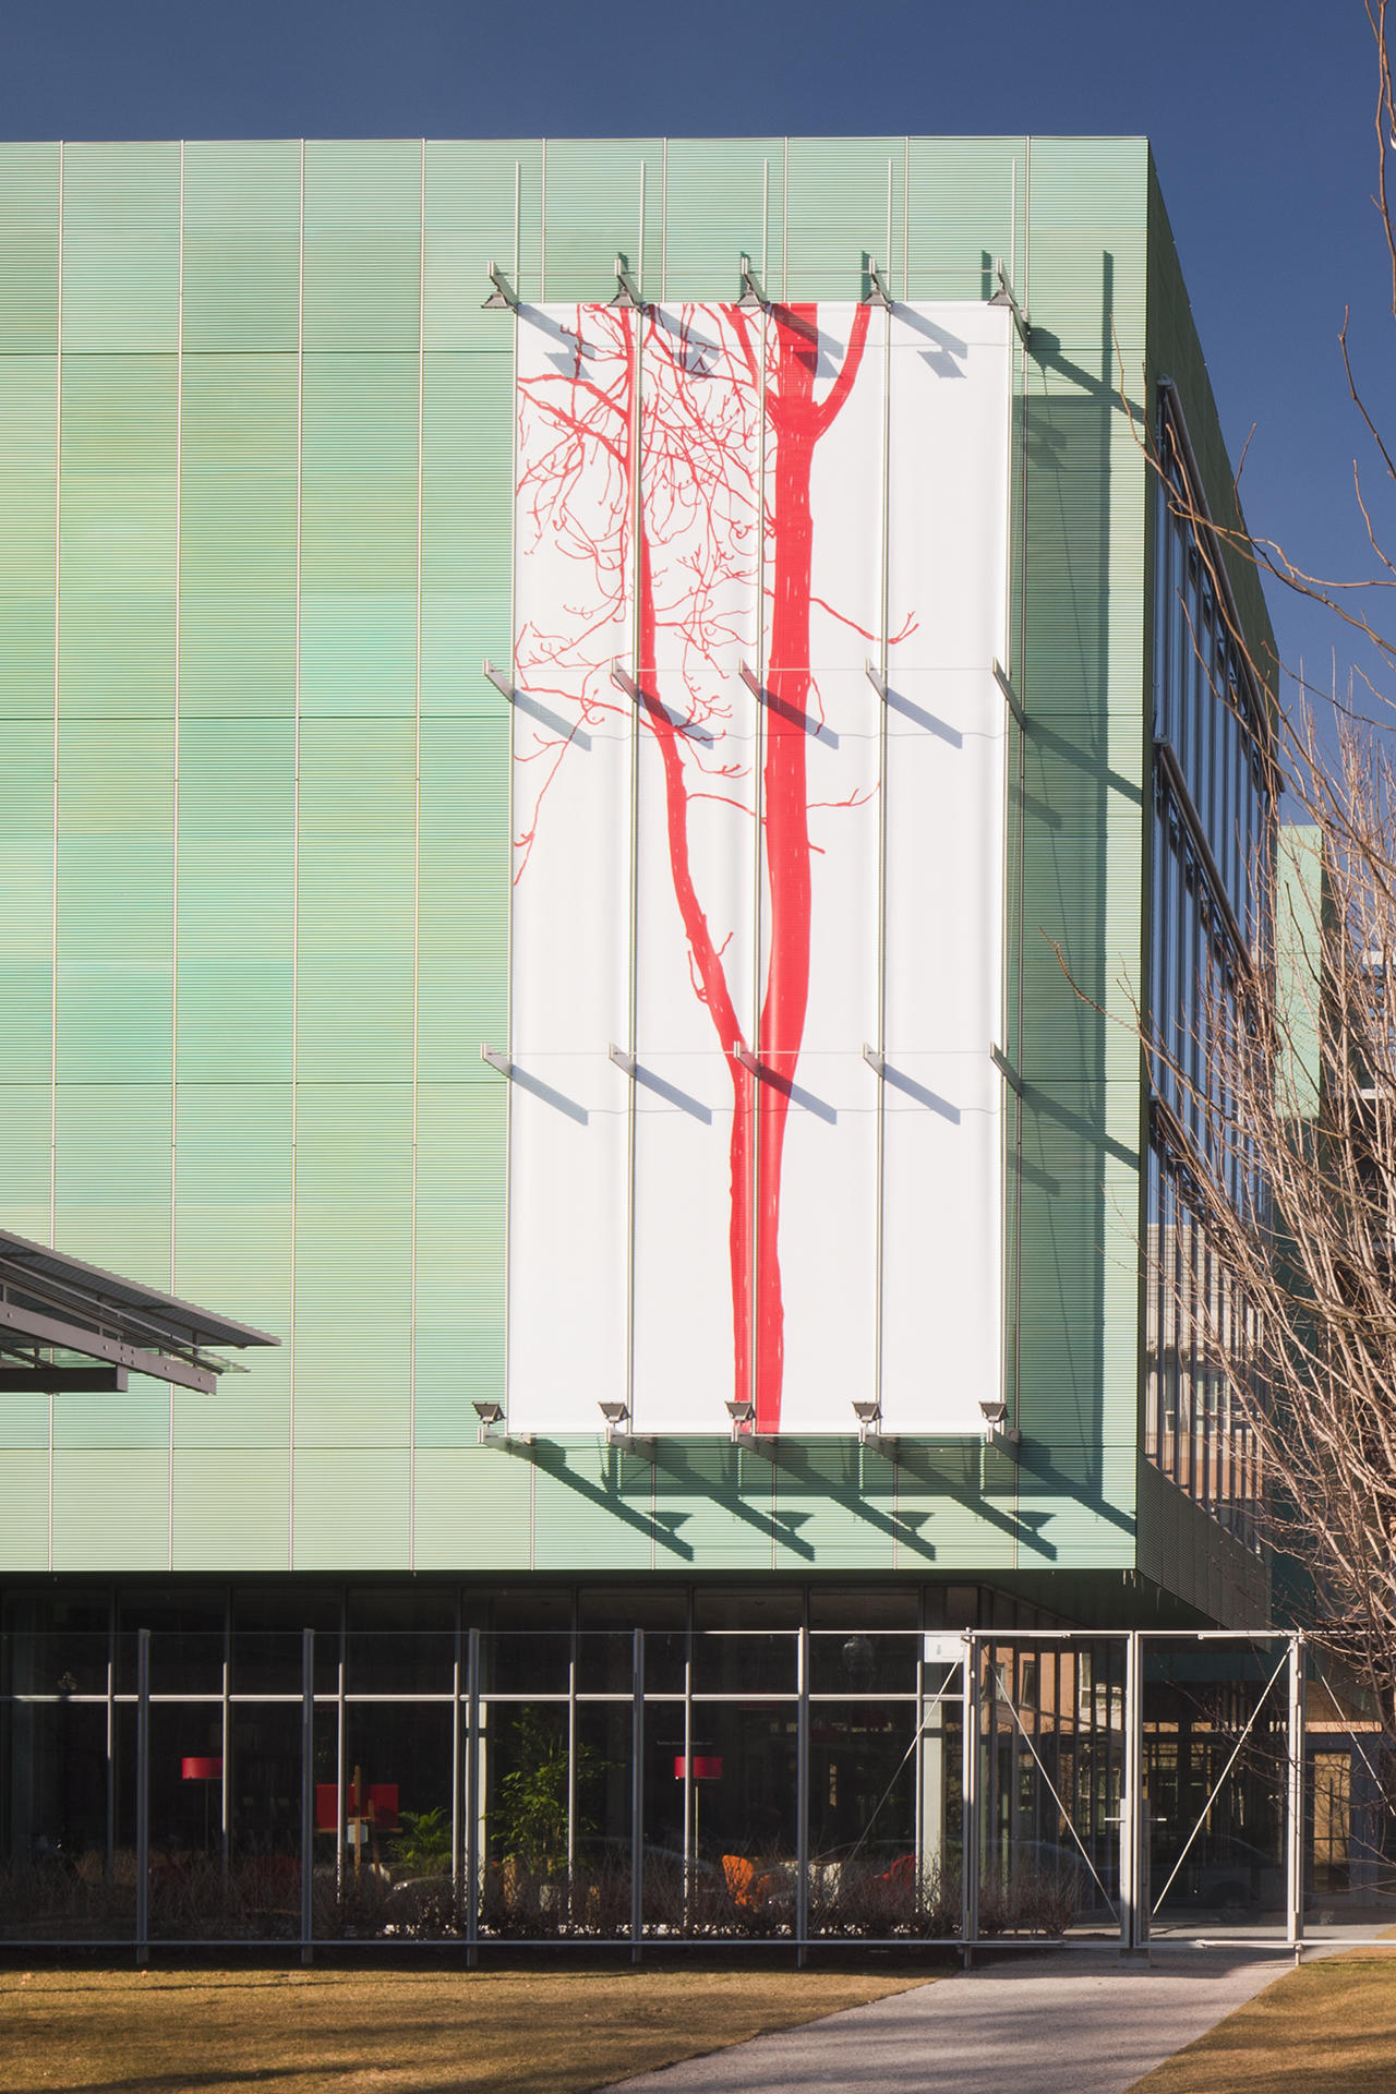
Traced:
<path id="1" fill-rule="evenodd" d="M 1300 1964 L 1130 2094 L 1392 2094 L 1396 1950 Z"/>

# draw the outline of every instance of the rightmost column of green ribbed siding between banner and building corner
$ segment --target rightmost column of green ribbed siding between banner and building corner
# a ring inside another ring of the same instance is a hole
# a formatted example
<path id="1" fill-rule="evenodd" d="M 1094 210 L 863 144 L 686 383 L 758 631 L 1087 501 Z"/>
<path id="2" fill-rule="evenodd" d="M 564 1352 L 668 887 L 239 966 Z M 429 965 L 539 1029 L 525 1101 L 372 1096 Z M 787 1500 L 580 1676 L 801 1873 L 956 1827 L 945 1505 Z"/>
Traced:
<path id="1" fill-rule="evenodd" d="M 1021 195 L 1021 193 L 1019 193 Z M 1023 1512 L 1059 1558 L 1134 1562 L 1147 151 L 1032 140 L 1015 289 L 1026 389 L 1021 1424 L 1063 1480 Z M 1063 974 L 1057 949 L 1072 980 Z M 1122 1024 L 1107 1024 L 1076 990 Z M 1099 1510 L 1093 1510 L 1099 1508 Z M 1030 1560 L 1023 1556 L 1023 1560 Z"/>

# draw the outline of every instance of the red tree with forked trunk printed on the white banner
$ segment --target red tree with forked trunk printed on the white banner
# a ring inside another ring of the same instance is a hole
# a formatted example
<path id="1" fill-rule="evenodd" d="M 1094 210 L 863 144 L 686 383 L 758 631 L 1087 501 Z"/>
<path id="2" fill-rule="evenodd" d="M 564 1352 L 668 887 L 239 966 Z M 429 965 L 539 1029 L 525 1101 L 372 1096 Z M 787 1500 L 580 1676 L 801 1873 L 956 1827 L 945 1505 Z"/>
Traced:
<path id="1" fill-rule="evenodd" d="M 858 377 L 869 308 L 823 392 L 814 306 L 578 306 L 559 354 L 519 379 L 519 528 L 576 574 L 559 630 L 536 620 L 515 641 L 515 678 L 576 718 L 540 733 L 515 794 L 515 879 L 527 875 L 548 787 L 578 731 L 634 704 L 661 760 L 668 856 L 689 972 L 733 1083 L 733 1388 L 756 1430 L 781 1422 L 785 1361 L 781 1168 L 810 995 L 808 739 L 818 729 L 810 668 L 814 452 Z M 760 760 L 735 733 L 735 668 L 764 632 Z M 837 616 L 837 614 L 835 614 Z M 617 687 L 626 634 L 634 672 Z M 638 695 L 636 695 L 638 691 Z M 720 802 L 760 821 L 764 978 L 743 1028 L 724 953 L 699 894 L 693 810 Z M 756 1037 L 749 1039 L 747 1032 Z"/>

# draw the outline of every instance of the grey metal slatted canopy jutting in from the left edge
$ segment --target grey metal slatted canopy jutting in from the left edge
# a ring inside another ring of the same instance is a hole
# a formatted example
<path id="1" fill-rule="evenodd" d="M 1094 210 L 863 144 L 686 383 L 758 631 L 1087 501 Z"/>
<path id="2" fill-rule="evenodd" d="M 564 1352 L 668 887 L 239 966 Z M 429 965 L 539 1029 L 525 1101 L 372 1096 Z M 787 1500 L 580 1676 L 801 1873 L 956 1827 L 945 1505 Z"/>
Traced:
<path id="1" fill-rule="evenodd" d="M 119 1393 L 151 1374 L 211 1397 L 232 1361 L 205 1349 L 247 1344 L 280 1338 L 0 1229 L 0 1395 Z"/>

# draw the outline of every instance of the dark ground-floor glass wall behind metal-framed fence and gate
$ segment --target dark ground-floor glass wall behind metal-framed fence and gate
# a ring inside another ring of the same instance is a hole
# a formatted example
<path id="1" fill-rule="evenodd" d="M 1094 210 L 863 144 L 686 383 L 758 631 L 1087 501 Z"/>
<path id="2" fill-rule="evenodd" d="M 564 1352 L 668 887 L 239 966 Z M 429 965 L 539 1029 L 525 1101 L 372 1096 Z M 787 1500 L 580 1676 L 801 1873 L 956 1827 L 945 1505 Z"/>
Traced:
<path id="1" fill-rule="evenodd" d="M 1241 1631 L 8 1633 L 0 1939 L 1118 1941 L 1126 1824 L 1145 1933 L 1369 1912 L 1381 1725 L 1296 1679 Z"/>

